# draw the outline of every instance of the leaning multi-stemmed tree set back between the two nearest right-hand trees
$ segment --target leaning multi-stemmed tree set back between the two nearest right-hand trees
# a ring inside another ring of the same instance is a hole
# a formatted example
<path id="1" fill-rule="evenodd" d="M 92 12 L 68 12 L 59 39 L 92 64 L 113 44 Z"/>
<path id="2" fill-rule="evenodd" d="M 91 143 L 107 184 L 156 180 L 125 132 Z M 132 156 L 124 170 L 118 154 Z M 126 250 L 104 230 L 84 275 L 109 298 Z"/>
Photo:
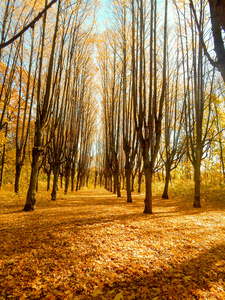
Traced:
<path id="1" fill-rule="evenodd" d="M 172 37 L 174 39 L 174 37 Z M 162 160 L 165 166 L 165 185 L 162 198 L 168 199 L 168 188 L 170 181 L 171 171 L 174 170 L 183 154 L 185 153 L 185 134 L 183 128 L 184 122 L 184 101 L 182 93 L 182 85 L 179 79 L 182 76 L 180 64 L 181 53 L 178 50 L 180 48 L 179 34 L 177 36 L 174 50 L 169 49 L 168 53 L 168 75 L 167 75 L 167 93 L 165 97 L 165 118 L 163 136 L 164 141 L 162 146 Z M 170 37 L 170 43 L 173 47 L 172 39 Z M 174 58 L 174 59 L 173 59 Z M 183 131 L 183 132 L 182 132 Z M 183 133 L 183 134 L 182 134 Z M 181 140 L 182 134 L 182 140 Z"/>

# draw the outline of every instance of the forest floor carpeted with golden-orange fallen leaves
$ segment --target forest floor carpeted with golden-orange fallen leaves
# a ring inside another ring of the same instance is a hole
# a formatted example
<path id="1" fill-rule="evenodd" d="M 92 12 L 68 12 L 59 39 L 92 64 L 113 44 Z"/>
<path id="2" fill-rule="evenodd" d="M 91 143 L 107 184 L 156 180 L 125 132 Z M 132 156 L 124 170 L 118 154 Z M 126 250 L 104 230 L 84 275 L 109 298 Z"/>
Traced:
<path id="1" fill-rule="evenodd" d="M 0 300 L 225 299 L 225 204 L 84 189 L 0 194 Z"/>

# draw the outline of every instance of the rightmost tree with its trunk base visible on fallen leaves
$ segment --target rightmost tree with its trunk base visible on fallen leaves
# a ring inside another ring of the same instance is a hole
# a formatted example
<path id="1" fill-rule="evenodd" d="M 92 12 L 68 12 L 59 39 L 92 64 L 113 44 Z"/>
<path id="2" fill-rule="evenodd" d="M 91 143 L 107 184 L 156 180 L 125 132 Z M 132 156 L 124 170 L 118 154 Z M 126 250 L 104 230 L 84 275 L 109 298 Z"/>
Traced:
<path id="1" fill-rule="evenodd" d="M 199 25 L 195 25 L 193 16 L 190 16 L 190 32 L 187 28 L 185 6 L 183 8 L 185 35 L 183 36 L 180 31 L 180 37 L 183 56 L 187 155 L 194 168 L 195 197 L 193 205 L 194 207 L 201 207 L 201 161 L 205 157 L 209 142 L 207 139 L 214 122 L 211 96 L 214 70 L 210 70 L 206 60 L 204 60 L 201 36 L 197 35 L 198 28 L 196 27 L 200 26 L 201 31 L 204 27 L 204 3 L 200 3 Z M 188 44 L 188 34 L 191 34 L 192 37 L 191 44 Z M 212 77 L 209 74 L 212 74 Z"/>

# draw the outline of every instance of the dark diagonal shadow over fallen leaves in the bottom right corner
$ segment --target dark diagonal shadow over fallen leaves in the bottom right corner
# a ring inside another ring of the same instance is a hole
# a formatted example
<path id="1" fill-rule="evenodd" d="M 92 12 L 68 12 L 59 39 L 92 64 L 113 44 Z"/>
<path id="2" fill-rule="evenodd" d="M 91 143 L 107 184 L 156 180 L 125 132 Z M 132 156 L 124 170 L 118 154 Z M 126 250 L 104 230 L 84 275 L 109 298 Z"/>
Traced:
<path id="1" fill-rule="evenodd" d="M 117 291 L 123 290 L 124 295 L 135 290 L 134 299 L 225 299 L 225 292 L 221 297 L 216 297 L 217 283 L 222 284 L 225 289 L 224 243 L 181 264 L 162 266 L 159 270 L 150 272 L 150 275 L 116 282 L 113 287 L 105 287 L 104 294 L 115 288 Z M 221 288 L 219 289 L 221 292 Z M 204 293 L 208 293 L 209 298 L 204 297 Z"/>

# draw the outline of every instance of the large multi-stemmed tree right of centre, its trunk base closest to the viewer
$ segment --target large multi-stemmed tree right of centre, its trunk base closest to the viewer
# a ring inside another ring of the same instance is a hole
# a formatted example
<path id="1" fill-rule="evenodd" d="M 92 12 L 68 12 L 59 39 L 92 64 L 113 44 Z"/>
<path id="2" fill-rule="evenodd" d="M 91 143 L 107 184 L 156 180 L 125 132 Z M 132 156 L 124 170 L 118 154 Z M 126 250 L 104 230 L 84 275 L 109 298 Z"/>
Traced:
<path id="1" fill-rule="evenodd" d="M 135 128 L 137 131 L 145 174 L 145 209 L 152 214 L 152 176 L 154 164 L 160 147 L 163 105 L 166 94 L 166 56 L 167 56 L 167 0 L 165 1 L 163 67 L 161 93 L 158 86 L 157 66 L 157 3 L 151 2 L 149 35 L 149 77 L 146 61 L 146 3 L 134 0 L 132 10 L 132 98 Z M 139 60 L 137 59 L 139 58 Z M 148 81 L 147 81 L 148 80 Z M 147 93 L 147 87 L 148 93 Z"/>

